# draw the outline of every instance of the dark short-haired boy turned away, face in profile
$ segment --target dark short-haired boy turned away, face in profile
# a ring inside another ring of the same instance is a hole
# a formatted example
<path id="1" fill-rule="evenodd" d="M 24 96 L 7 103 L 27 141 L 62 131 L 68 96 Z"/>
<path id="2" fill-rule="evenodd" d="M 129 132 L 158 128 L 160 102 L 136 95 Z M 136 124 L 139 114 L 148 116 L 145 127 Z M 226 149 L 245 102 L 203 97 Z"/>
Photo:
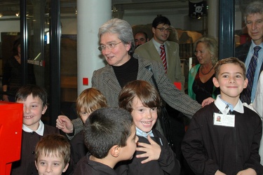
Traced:
<path id="1" fill-rule="evenodd" d="M 116 163 L 133 158 L 138 138 L 128 111 L 97 109 L 86 120 L 83 133 L 89 153 L 79 160 L 74 174 L 116 175 Z"/>

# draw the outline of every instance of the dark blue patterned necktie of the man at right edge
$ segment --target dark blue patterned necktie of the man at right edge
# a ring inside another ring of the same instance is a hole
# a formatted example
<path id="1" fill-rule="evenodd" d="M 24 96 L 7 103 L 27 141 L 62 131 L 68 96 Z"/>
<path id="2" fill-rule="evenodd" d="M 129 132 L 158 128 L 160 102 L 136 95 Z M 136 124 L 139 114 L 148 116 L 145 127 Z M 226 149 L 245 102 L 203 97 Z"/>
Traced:
<path id="1" fill-rule="evenodd" d="M 250 64 L 248 65 L 248 71 L 247 71 L 247 78 L 248 78 L 248 87 L 244 89 L 244 95 L 242 102 L 246 102 L 247 104 L 251 103 L 251 91 L 255 76 L 255 70 L 257 67 L 257 57 L 258 57 L 258 51 L 261 49 L 261 47 L 256 46 L 254 48 L 254 54 L 250 60 Z"/>

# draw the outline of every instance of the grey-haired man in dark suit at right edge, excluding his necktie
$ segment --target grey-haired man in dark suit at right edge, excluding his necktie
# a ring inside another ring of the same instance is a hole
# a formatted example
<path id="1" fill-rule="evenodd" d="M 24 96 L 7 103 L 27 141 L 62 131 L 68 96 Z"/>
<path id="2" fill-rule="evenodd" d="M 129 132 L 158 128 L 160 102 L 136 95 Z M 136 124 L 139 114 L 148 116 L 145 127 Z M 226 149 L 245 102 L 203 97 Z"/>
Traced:
<path id="1" fill-rule="evenodd" d="M 236 48 L 235 57 L 241 59 L 245 63 L 245 68 L 247 69 L 248 76 L 248 66 L 250 64 L 252 55 L 254 54 L 255 46 L 259 46 L 261 49 L 258 51 L 257 57 L 257 66 L 255 69 L 255 76 L 252 83 L 251 90 L 251 102 L 255 99 L 255 92 L 257 89 L 257 80 L 259 78 L 260 72 L 263 70 L 263 2 L 262 1 L 253 1 L 245 9 L 244 13 L 245 25 L 248 29 L 248 35 L 251 40 L 243 45 L 239 45 Z M 241 101 L 245 102 L 244 94 L 241 93 Z M 248 102 L 250 103 L 250 102 Z"/>

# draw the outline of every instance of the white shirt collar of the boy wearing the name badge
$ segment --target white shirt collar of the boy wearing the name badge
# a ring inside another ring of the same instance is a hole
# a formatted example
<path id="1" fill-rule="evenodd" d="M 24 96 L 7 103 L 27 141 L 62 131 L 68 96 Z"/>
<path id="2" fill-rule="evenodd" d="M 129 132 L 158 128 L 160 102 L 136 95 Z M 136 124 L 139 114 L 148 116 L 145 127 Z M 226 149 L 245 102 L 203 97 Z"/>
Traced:
<path id="1" fill-rule="evenodd" d="M 217 106 L 217 109 L 220 110 L 220 112 L 226 114 L 226 113 L 229 113 L 230 111 L 230 108 L 227 107 L 227 102 L 224 102 L 224 100 L 222 100 L 220 98 L 220 94 L 217 95 L 217 99 L 215 99 L 215 106 Z M 225 111 L 226 110 L 226 111 Z M 234 107 L 234 111 L 238 112 L 238 113 L 244 113 L 244 107 L 243 107 L 243 104 L 241 102 L 240 99 L 238 99 L 238 103 L 236 104 L 236 106 Z"/>

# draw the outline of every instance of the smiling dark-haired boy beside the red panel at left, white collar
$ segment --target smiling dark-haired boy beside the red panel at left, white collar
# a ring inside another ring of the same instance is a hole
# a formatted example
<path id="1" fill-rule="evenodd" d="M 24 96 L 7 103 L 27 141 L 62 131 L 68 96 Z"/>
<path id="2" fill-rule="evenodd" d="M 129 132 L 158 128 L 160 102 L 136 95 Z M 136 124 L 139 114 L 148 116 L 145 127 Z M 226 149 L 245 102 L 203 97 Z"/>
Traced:
<path id="1" fill-rule="evenodd" d="M 13 162 L 11 174 L 38 174 L 35 160 L 35 147 L 43 136 L 60 134 L 56 127 L 44 125 L 41 116 L 48 108 L 48 94 L 38 85 L 23 85 L 15 95 L 15 101 L 24 104 L 22 144 L 20 160 Z"/>

